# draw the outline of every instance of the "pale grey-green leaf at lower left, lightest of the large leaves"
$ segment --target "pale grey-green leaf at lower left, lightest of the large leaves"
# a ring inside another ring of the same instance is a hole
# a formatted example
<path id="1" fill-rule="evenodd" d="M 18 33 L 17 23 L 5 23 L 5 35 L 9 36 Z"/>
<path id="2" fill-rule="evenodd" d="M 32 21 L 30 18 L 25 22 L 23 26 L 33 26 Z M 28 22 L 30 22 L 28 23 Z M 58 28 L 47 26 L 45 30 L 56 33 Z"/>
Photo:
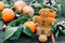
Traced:
<path id="1" fill-rule="evenodd" d="M 10 37 L 14 34 L 14 32 L 17 30 L 18 27 L 11 27 L 8 26 L 5 28 L 5 33 L 4 33 L 4 41 L 8 40 Z"/>

